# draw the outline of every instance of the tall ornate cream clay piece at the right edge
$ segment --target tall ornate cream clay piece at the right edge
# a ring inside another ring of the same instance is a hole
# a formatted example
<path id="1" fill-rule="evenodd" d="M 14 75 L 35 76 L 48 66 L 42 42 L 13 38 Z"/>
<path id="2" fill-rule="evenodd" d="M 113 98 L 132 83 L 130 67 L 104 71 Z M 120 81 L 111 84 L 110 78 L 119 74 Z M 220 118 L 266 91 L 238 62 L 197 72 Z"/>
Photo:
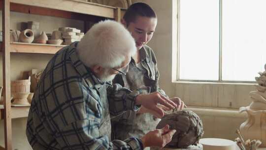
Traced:
<path id="1" fill-rule="evenodd" d="M 261 147 L 266 147 L 266 64 L 265 72 L 259 74 L 259 77 L 255 77 L 257 91 L 249 93 L 252 103 L 239 109 L 240 113 L 248 114 L 247 120 L 240 125 L 240 132 L 244 140 L 260 140 Z"/>

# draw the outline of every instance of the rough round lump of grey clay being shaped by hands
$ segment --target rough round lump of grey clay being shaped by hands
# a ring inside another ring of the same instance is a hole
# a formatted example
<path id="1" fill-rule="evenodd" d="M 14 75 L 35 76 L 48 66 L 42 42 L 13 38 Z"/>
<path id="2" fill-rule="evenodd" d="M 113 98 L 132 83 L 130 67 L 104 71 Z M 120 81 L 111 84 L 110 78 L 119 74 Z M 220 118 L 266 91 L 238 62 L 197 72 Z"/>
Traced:
<path id="1" fill-rule="evenodd" d="M 156 128 L 163 128 L 166 124 L 170 129 L 176 130 L 172 141 L 166 147 L 187 148 L 190 145 L 197 145 L 204 133 L 201 119 L 195 112 L 189 110 L 166 114 Z"/>

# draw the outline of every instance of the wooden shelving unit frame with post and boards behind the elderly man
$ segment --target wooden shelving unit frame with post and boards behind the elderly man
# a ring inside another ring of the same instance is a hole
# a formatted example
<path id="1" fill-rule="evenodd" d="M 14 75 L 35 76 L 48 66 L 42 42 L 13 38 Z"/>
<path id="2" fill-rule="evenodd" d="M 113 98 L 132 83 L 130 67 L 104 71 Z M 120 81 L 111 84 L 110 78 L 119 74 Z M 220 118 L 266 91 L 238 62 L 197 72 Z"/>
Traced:
<path id="1" fill-rule="evenodd" d="M 3 41 L 0 52 L 3 57 L 3 113 L 5 148 L 12 150 L 11 118 L 26 117 L 29 107 L 11 107 L 10 53 L 55 54 L 65 45 L 9 42 L 10 11 L 45 16 L 54 16 L 84 21 L 84 30 L 90 28 L 88 21 L 98 22 L 105 18 L 120 21 L 125 9 L 86 2 L 83 0 L 0 0 L 2 9 Z M 6 101 L 8 100 L 8 101 Z M 0 108 L 1 109 L 1 108 Z"/>

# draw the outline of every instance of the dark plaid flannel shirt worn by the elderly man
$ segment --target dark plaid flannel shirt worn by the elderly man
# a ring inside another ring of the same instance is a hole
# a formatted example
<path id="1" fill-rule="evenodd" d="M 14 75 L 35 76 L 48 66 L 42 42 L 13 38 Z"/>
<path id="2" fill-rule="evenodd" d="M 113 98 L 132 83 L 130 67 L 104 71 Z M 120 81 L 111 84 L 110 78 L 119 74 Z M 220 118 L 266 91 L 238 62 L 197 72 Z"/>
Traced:
<path id="1" fill-rule="evenodd" d="M 110 125 L 104 121 L 109 112 L 137 110 L 135 97 L 141 91 L 101 82 L 79 60 L 77 44 L 55 54 L 37 85 L 26 129 L 33 150 L 142 150 L 138 138 L 109 142 L 108 131 L 100 130 L 102 123 Z M 104 90 L 99 93 L 98 87 Z"/>

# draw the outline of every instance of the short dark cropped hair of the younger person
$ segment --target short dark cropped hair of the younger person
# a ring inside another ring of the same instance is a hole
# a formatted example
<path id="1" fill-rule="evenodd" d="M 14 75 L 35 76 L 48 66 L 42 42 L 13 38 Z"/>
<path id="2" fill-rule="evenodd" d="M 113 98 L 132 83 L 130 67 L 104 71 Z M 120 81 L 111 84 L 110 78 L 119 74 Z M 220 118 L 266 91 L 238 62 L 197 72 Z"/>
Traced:
<path id="1" fill-rule="evenodd" d="M 127 25 L 136 20 L 137 16 L 157 18 L 154 10 L 144 2 L 136 2 L 130 5 L 127 9 L 123 19 L 126 21 Z"/>

